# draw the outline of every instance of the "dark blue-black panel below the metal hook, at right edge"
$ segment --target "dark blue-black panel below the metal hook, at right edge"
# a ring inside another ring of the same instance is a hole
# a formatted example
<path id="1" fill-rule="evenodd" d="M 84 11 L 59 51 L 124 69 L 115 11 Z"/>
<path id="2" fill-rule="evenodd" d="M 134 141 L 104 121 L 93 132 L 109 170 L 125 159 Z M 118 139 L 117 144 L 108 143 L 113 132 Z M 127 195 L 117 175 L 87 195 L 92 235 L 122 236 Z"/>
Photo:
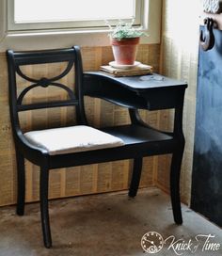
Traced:
<path id="1" fill-rule="evenodd" d="M 222 226 L 222 31 L 199 49 L 191 208 Z"/>

